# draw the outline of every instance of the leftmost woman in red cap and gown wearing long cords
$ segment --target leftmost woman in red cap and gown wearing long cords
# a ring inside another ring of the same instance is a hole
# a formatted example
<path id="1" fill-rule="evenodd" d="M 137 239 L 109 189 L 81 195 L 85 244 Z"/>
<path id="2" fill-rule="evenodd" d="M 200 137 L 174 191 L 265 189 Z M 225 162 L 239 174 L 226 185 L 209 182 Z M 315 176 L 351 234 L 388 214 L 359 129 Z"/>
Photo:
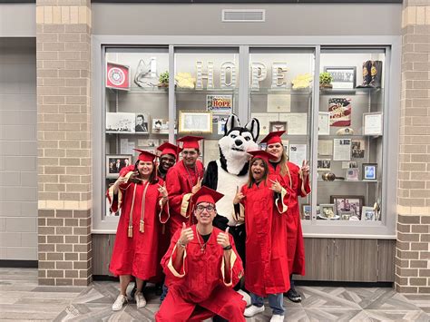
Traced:
<path id="1" fill-rule="evenodd" d="M 161 224 L 169 219 L 165 207 L 168 193 L 163 181 L 156 176 L 156 156 L 134 150 L 141 152 L 135 171 L 122 171 L 106 193 L 111 210 L 122 210 L 109 265 L 112 274 L 120 277 L 121 293 L 112 305 L 115 311 L 127 301 L 125 290 L 132 276 L 137 284 L 134 295 L 137 307 L 146 305 L 143 281 L 158 273 L 158 236 Z"/>

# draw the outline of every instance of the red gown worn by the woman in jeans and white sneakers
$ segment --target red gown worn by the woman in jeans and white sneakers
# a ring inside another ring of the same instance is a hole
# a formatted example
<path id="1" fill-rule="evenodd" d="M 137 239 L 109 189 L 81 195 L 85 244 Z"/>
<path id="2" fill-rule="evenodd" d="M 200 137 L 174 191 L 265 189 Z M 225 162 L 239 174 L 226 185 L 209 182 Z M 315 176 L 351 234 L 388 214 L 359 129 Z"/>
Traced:
<path id="1" fill-rule="evenodd" d="M 247 231 L 245 287 L 261 297 L 286 292 L 289 270 L 285 206 L 289 193 L 286 190 L 283 200 L 279 198 L 277 207 L 273 190 L 265 182 L 259 186 L 254 183 L 251 188 L 244 185 L 241 192 L 245 195 L 242 204 Z"/>

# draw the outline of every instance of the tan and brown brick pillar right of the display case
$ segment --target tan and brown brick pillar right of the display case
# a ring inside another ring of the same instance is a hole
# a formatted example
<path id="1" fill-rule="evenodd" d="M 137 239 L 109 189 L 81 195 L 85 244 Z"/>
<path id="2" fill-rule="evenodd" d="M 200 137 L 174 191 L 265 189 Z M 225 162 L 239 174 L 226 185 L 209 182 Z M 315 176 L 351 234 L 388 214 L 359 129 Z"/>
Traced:
<path id="1" fill-rule="evenodd" d="M 430 293 L 430 1 L 406 0 L 397 184 L 396 289 Z"/>

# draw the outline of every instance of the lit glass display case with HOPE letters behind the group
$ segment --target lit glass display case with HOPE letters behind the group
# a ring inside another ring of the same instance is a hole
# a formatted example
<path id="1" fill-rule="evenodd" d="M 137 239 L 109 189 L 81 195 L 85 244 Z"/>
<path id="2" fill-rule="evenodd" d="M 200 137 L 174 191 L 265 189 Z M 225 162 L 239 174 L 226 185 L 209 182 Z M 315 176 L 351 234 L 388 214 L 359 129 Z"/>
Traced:
<path id="1" fill-rule="evenodd" d="M 119 214 L 109 213 L 104 193 L 116 163 L 135 160 L 132 148 L 201 135 L 207 164 L 219 158 L 234 112 L 259 120 L 259 139 L 286 130 L 289 160 L 310 161 L 312 193 L 299 199 L 305 236 L 394 238 L 396 37 L 93 40 L 102 120 L 93 124 L 94 232 L 116 229 Z M 321 74 L 331 83 L 320 86 Z"/>

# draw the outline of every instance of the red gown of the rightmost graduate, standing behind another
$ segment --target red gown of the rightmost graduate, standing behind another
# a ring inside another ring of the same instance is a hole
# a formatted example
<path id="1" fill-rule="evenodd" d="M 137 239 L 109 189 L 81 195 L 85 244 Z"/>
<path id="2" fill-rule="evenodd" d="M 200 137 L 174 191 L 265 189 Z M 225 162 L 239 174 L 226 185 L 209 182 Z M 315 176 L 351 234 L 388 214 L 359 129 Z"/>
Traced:
<path id="1" fill-rule="evenodd" d="M 288 227 L 288 268 L 290 274 L 305 275 L 305 245 L 303 232 L 301 229 L 300 210 L 298 207 L 298 196 L 306 197 L 310 193 L 309 176 L 305 181 L 302 180 L 302 174 L 298 165 L 293 162 L 287 162 L 288 174 L 284 176 L 283 181 L 288 184 L 288 190 L 291 196 L 288 200 L 287 210 L 287 227 Z M 269 164 L 269 173 L 276 174 L 280 177 L 280 166 L 276 169 Z"/>

